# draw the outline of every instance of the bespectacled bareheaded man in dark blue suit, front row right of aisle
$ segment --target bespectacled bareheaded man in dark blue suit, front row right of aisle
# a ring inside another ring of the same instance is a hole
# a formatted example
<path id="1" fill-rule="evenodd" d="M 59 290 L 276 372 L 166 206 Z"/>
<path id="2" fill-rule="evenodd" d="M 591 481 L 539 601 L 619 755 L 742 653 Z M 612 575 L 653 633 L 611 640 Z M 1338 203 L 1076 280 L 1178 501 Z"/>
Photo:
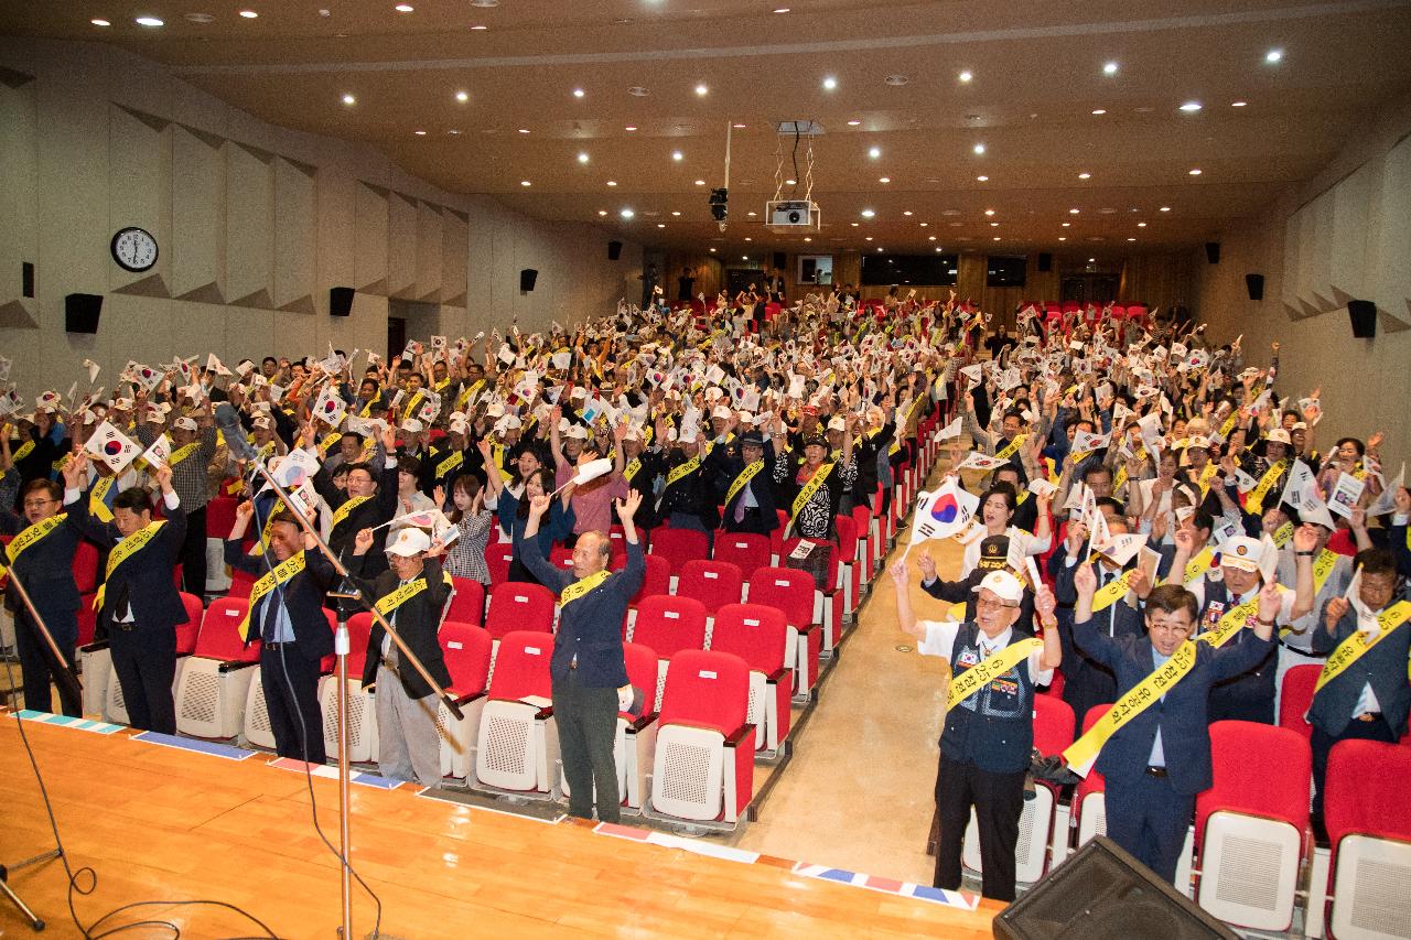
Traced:
<path id="1" fill-rule="evenodd" d="M 1098 576 L 1091 565 L 1074 573 L 1074 641 L 1118 677 L 1118 706 L 1127 693 L 1180 655 L 1194 662 L 1165 693 L 1122 724 L 1098 754 L 1106 778 L 1108 836 L 1167 881 L 1175 879 L 1195 795 L 1211 786 L 1211 733 L 1206 704 L 1211 686 L 1237 676 L 1273 649 L 1278 589 L 1264 584 L 1253 635 L 1215 648 L 1191 641 L 1199 607 L 1178 584 L 1151 589 L 1146 598 L 1146 637 L 1109 637 L 1092 614 Z M 1240 629 L 1246 629 L 1242 627 Z M 1188 649 L 1187 642 L 1192 646 Z"/>

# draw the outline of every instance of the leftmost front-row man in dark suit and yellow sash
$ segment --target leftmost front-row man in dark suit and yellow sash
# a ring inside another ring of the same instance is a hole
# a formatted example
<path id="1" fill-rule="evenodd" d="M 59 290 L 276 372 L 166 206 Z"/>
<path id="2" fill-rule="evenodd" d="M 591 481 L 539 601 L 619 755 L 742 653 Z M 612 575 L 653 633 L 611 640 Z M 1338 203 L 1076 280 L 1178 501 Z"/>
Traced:
<path id="1" fill-rule="evenodd" d="M 83 716 L 83 703 L 75 694 L 73 683 L 61 680 L 59 672 L 73 670 L 73 646 L 79 638 L 79 590 L 73 583 L 73 553 L 87 522 L 87 504 L 80 498 L 79 478 L 83 464 L 71 457 L 63 466 L 65 488 L 73 493 L 73 505 L 61 512 L 65 490 L 48 480 L 31 480 L 23 487 L 24 515 L 10 511 L 14 491 L 20 488 L 20 474 L 10 469 L 0 483 L 0 532 L 13 535 L 8 546 L 0 549 L 0 565 L 8 566 L 18 577 L 11 577 L 6 589 L 4 605 L 14 615 L 16 646 L 20 652 L 20 675 L 24 677 L 24 707 L 49 711 L 51 679 L 59 686 L 59 707 L 63 714 Z M 54 651 L 40 635 L 28 608 L 20 600 L 16 580 L 23 582 L 30 601 L 49 635 L 63 653 L 63 663 L 54 659 Z"/>

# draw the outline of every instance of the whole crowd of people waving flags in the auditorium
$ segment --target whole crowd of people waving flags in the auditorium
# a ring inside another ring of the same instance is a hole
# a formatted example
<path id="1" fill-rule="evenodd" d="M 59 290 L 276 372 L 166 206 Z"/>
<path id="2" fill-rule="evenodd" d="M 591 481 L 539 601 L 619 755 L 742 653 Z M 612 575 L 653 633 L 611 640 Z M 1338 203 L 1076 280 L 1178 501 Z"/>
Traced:
<path id="1" fill-rule="evenodd" d="M 785 525 L 834 539 L 840 512 L 892 508 L 897 467 L 927 443 L 917 426 L 938 415 L 959 422 L 945 432 L 950 474 L 976 490 L 975 522 L 955 535 L 965 548 L 948 580 L 914 556 L 921 587 L 944 601 L 934 610 L 919 617 L 910 569 L 890 570 L 902 628 L 951 670 L 937 886 L 959 886 L 974 807 L 983 892 L 1013 898 L 1033 697 L 1055 670 L 1079 723 L 1141 696 L 1103 741 L 1082 738 L 1089 759 L 1072 764 L 1096 761 L 1109 833 L 1165 878 L 1211 783 L 1209 721 L 1273 723 L 1290 668 L 1336 663 L 1309 711 L 1315 814 L 1333 744 L 1405 734 L 1411 495 L 1384 476 L 1380 432 L 1319 452 L 1318 391 L 1284 387 L 1277 344 L 1256 364 L 1240 340 L 1216 347 L 1192 323 L 1098 308 L 1057 319 L 1026 308 L 1000 332 L 954 296 L 766 299 L 619 305 L 571 330 L 436 336 L 389 358 L 130 363 L 107 395 L 76 384 L 32 409 L 10 391 L 7 565 L 72 668 L 72 559 L 80 541 L 100 549 L 99 631 L 131 723 L 174 733 L 174 627 L 186 617 L 174 570 L 206 596 L 207 502 L 243 500 L 219 534 L 226 563 L 258 577 L 243 635 L 262 641 L 279 754 L 320 762 L 322 735 L 308 730 L 336 577 L 302 524 L 442 686 L 450 577 L 488 583 L 487 545 L 511 543 L 509 576 L 547 586 L 564 611 L 553 687 L 573 813 L 593 814 L 595 789 L 612 820 L 608 728 L 632 699 L 618 625 L 642 580 L 639 535 Z M 89 388 L 96 378 L 90 367 Z M 291 483 L 288 504 L 250 476 L 217 405 Z M 608 566 L 614 526 L 621 570 Z M 555 546 L 573 549 L 571 570 L 549 563 Z M 13 589 L 7 607 L 27 707 L 49 710 L 63 665 Z M 373 631 L 364 682 L 378 689 L 382 771 L 436 786 L 437 690 L 399 653 Z"/>

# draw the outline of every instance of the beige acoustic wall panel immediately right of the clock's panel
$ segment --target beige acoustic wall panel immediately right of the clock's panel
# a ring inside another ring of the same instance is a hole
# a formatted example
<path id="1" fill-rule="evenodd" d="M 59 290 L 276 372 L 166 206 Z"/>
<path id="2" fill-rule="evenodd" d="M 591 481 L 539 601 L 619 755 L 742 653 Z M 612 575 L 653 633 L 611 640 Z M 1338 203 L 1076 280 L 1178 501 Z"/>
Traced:
<path id="1" fill-rule="evenodd" d="M 172 296 L 224 303 L 224 140 L 172 126 Z"/>

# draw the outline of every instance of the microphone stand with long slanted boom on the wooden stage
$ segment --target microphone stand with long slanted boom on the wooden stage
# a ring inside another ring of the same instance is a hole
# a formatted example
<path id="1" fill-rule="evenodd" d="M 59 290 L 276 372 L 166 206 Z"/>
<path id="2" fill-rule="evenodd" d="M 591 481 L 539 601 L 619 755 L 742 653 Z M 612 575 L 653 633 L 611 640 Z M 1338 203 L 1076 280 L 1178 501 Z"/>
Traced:
<path id="1" fill-rule="evenodd" d="M 230 435 L 230 433 L 226 435 L 226 440 L 227 442 L 229 440 L 234 440 L 234 439 L 236 438 L 233 435 Z M 238 440 L 241 440 L 241 442 L 244 440 L 244 432 L 243 430 L 240 432 Z M 243 454 L 237 453 L 236 456 L 237 457 L 243 456 L 247 460 L 250 460 L 253 471 L 255 474 L 258 474 L 260 477 L 264 478 L 265 484 L 268 484 L 268 487 L 271 490 L 274 490 L 275 495 L 286 507 L 289 507 L 291 511 L 293 510 L 295 502 L 293 502 L 293 498 L 289 495 L 289 491 L 285 490 L 284 486 L 278 480 L 274 478 L 274 474 L 270 473 L 270 467 L 265 466 L 264 460 L 260 460 L 254 454 L 253 449 L 250 449 L 250 452 L 243 453 Z M 254 487 L 251 487 L 251 498 L 253 497 L 254 497 Z M 373 603 L 371 598 L 368 598 L 368 596 L 363 590 L 363 587 L 356 580 L 353 580 L 353 576 L 349 573 L 347 566 L 343 565 L 343 559 L 339 558 L 339 555 L 334 553 L 332 548 L 329 548 L 329 543 L 323 541 L 322 535 L 319 535 L 319 529 L 312 522 L 309 522 L 309 519 L 302 512 L 293 511 L 292 515 L 295 517 L 295 519 L 298 519 L 299 528 L 303 529 L 303 532 L 306 535 L 309 535 L 309 536 L 313 538 L 315 548 L 317 548 L 319 552 L 326 559 L 329 559 L 329 562 L 333 565 L 333 570 L 337 572 L 337 574 L 343 579 L 343 583 L 339 584 L 337 590 L 330 591 L 329 597 L 334 597 L 334 598 L 339 600 L 339 620 L 337 620 L 337 631 L 334 632 L 334 637 L 333 637 L 333 653 L 337 658 L 337 663 L 339 663 L 339 666 L 337 666 L 337 682 L 339 682 L 339 852 L 340 852 L 339 867 L 341 869 L 341 882 L 343 882 L 341 884 L 341 924 L 343 926 L 341 926 L 340 932 L 341 932 L 343 940 L 351 940 L 351 937 L 353 937 L 353 895 L 351 895 L 351 881 L 350 879 L 351 879 L 351 875 L 353 875 L 353 867 L 349 862 L 349 854 L 351 852 L 353 845 L 351 845 L 350 836 L 349 836 L 349 817 L 351 814 L 351 810 L 349 809 L 349 725 L 347 725 L 347 710 L 349 710 L 349 690 L 347 690 L 349 687 L 347 687 L 347 680 L 349 680 L 349 645 L 350 645 L 350 641 L 349 641 L 347 610 L 346 610 L 346 605 L 356 600 L 356 601 L 360 601 L 364 607 L 367 607 L 368 613 L 373 614 L 373 620 L 375 620 L 378 624 L 381 624 L 382 629 L 387 631 L 387 635 L 391 637 L 392 642 L 396 644 L 398 652 L 401 655 L 401 662 L 409 663 L 418 672 L 418 675 L 420 675 L 420 677 L 426 682 L 426 685 L 429 687 L 432 687 L 432 689 L 436 690 L 436 694 L 440 697 L 442 704 L 444 704 L 446 710 L 450 711 L 457 720 L 464 718 L 464 713 L 460 710 L 460 706 L 456 704 L 456 699 L 450 693 L 447 693 L 444 689 L 442 689 L 440 683 L 436 682 L 436 679 L 433 679 L 429 672 L 426 672 L 426 666 L 422 663 L 420 659 L 416 658 L 416 653 L 412 652 L 412 649 L 402 641 L 402 637 L 401 637 L 401 634 L 396 632 L 396 628 L 392 627 L 391 622 L 388 622 L 387 617 L 384 617 L 381 611 L 377 610 L 377 605 Z"/>

